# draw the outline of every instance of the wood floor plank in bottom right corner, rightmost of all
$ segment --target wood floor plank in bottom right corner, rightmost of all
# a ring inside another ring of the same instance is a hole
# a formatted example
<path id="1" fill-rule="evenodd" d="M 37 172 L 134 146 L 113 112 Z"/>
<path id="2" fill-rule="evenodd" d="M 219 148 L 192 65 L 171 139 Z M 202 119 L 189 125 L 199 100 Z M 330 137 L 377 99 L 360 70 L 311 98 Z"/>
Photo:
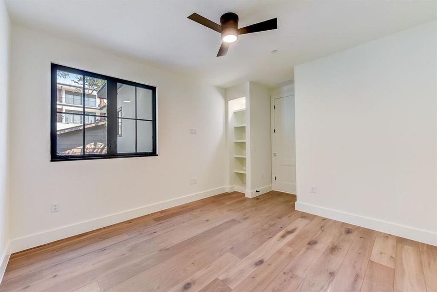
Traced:
<path id="1" fill-rule="evenodd" d="M 426 291 L 437 292 L 437 246 L 420 243 Z"/>

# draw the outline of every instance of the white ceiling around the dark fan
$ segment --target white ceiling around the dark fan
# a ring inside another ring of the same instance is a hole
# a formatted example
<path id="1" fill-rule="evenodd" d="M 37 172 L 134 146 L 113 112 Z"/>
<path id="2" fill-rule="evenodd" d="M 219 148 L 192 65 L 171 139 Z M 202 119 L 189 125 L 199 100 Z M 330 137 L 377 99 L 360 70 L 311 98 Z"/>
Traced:
<path id="1" fill-rule="evenodd" d="M 13 22 L 142 58 L 229 87 L 292 79 L 297 64 L 437 18 L 435 0 L 152 1 L 6 0 Z M 278 18 L 278 29 L 240 36 L 216 57 L 220 35 L 187 17 L 220 23 L 235 12 L 240 27 Z M 271 54 L 278 50 L 277 54 Z"/>

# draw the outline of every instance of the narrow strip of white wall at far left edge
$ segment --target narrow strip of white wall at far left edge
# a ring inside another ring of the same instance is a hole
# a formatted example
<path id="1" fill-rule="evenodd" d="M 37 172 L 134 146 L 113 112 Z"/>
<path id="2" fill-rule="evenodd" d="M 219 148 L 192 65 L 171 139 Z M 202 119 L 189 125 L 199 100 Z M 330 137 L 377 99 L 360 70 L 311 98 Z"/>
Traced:
<path id="1" fill-rule="evenodd" d="M 4 0 L 0 0 L 0 282 L 8 259 L 8 107 L 11 31 Z"/>

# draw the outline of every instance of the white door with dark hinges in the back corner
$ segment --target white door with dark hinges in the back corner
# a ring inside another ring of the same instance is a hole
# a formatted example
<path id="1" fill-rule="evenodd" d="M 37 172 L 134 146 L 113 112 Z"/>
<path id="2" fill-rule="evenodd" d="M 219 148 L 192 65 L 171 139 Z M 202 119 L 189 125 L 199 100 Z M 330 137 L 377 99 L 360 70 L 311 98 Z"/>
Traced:
<path id="1" fill-rule="evenodd" d="M 294 95 L 276 98 L 273 114 L 273 187 L 296 194 Z"/>

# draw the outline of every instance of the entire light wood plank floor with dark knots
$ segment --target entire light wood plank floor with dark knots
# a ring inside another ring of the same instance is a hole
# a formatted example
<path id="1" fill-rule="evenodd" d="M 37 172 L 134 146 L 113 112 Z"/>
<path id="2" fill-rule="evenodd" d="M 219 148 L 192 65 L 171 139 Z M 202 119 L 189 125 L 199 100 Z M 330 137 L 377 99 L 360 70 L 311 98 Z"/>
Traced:
<path id="1" fill-rule="evenodd" d="M 241 193 L 11 256 L 1 292 L 437 291 L 437 247 Z"/>

